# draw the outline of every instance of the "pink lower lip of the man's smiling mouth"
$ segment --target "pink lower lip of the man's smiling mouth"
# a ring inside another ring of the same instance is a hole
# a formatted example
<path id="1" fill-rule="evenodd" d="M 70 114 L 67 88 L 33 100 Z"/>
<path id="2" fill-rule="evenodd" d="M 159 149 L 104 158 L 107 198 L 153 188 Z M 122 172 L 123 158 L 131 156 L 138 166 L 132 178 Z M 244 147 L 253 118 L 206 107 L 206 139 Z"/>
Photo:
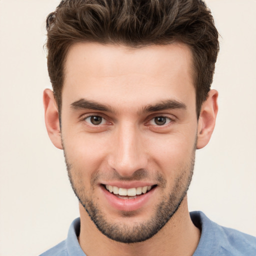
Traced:
<path id="1" fill-rule="evenodd" d="M 115 209 L 122 210 L 122 211 L 132 211 L 132 210 L 137 210 L 137 209 L 141 208 L 150 199 L 155 188 L 156 187 L 152 188 L 145 194 L 138 195 L 136 198 L 122 199 L 122 198 L 117 197 L 113 193 L 110 193 L 103 186 L 101 187 L 108 203 Z"/>

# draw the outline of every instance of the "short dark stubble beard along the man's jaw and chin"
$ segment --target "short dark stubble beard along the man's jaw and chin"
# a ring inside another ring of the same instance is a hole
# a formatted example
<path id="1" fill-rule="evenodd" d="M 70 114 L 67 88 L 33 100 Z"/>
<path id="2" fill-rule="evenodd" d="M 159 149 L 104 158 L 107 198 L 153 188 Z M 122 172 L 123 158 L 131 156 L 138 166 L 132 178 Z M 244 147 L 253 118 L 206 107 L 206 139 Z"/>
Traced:
<path id="1" fill-rule="evenodd" d="M 85 194 L 85 187 L 82 182 L 75 184 L 73 174 L 75 173 L 77 175 L 79 171 L 73 170 L 71 164 L 67 162 L 65 151 L 64 156 L 69 181 L 73 191 L 81 205 L 87 211 L 90 219 L 96 225 L 97 229 L 112 240 L 122 243 L 134 243 L 145 241 L 152 237 L 177 211 L 191 182 L 194 168 L 195 150 L 190 158 L 190 162 L 180 170 L 179 173 L 181 174 L 174 180 L 174 186 L 169 194 L 167 196 L 163 196 L 162 200 L 155 205 L 154 208 L 152 208 L 152 211 L 154 212 L 152 217 L 149 220 L 140 223 L 134 222 L 133 226 L 125 224 L 125 221 L 124 223 L 120 224 L 111 223 L 107 220 L 104 213 L 100 210 L 100 206 L 93 201 L 93 198 L 89 198 Z M 145 173 L 144 170 L 141 170 L 141 172 Z M 139 173 L 136 174 L 139 176 Z M 93 184 L 93 179 L 95 182 L 95 177 L 91 178 L 91 185 Z M 157 186 L 163 190 L 166 185 L 166 180 L 164 179 L 163 175 L 157 172 L 156 179 L 158 180 Z M 132 217 L 132 215 L 135 214 L 133 211 L 121 213 L 124 218 Z"/>

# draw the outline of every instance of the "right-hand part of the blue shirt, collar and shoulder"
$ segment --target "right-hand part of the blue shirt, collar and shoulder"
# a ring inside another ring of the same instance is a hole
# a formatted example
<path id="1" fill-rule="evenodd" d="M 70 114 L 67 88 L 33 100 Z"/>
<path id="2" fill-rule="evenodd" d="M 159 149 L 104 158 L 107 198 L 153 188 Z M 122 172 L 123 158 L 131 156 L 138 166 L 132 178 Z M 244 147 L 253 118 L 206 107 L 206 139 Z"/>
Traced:
<path id="1" fill-rule="evenodd" d="M 255 256 L 256 237 L 238 230 L 223 227 L 211 221 L 202 212 L 190 212 L 191 219 L 201 229 L 199 244 L 194 256 Z M 208 254 L 210 251 L 211 254 Z"/>

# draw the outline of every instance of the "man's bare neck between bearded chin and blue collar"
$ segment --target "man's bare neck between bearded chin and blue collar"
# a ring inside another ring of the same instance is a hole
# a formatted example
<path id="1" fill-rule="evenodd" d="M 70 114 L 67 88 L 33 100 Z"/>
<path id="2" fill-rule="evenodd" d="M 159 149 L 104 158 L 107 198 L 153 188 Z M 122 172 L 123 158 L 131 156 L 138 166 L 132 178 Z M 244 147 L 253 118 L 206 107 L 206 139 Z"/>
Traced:
<path id="1" fill-rule="evenodd" d="M 187 197 L 183 199 L 171 219 L 151 238 L 136 243 L 121 243 L 107 238 L 95 226 L 84 208 L 80 210 L 79 243 L 88 256 L 157 255 L 190 256 L 200 239 L 200 231 L 192 223 Z"/>

